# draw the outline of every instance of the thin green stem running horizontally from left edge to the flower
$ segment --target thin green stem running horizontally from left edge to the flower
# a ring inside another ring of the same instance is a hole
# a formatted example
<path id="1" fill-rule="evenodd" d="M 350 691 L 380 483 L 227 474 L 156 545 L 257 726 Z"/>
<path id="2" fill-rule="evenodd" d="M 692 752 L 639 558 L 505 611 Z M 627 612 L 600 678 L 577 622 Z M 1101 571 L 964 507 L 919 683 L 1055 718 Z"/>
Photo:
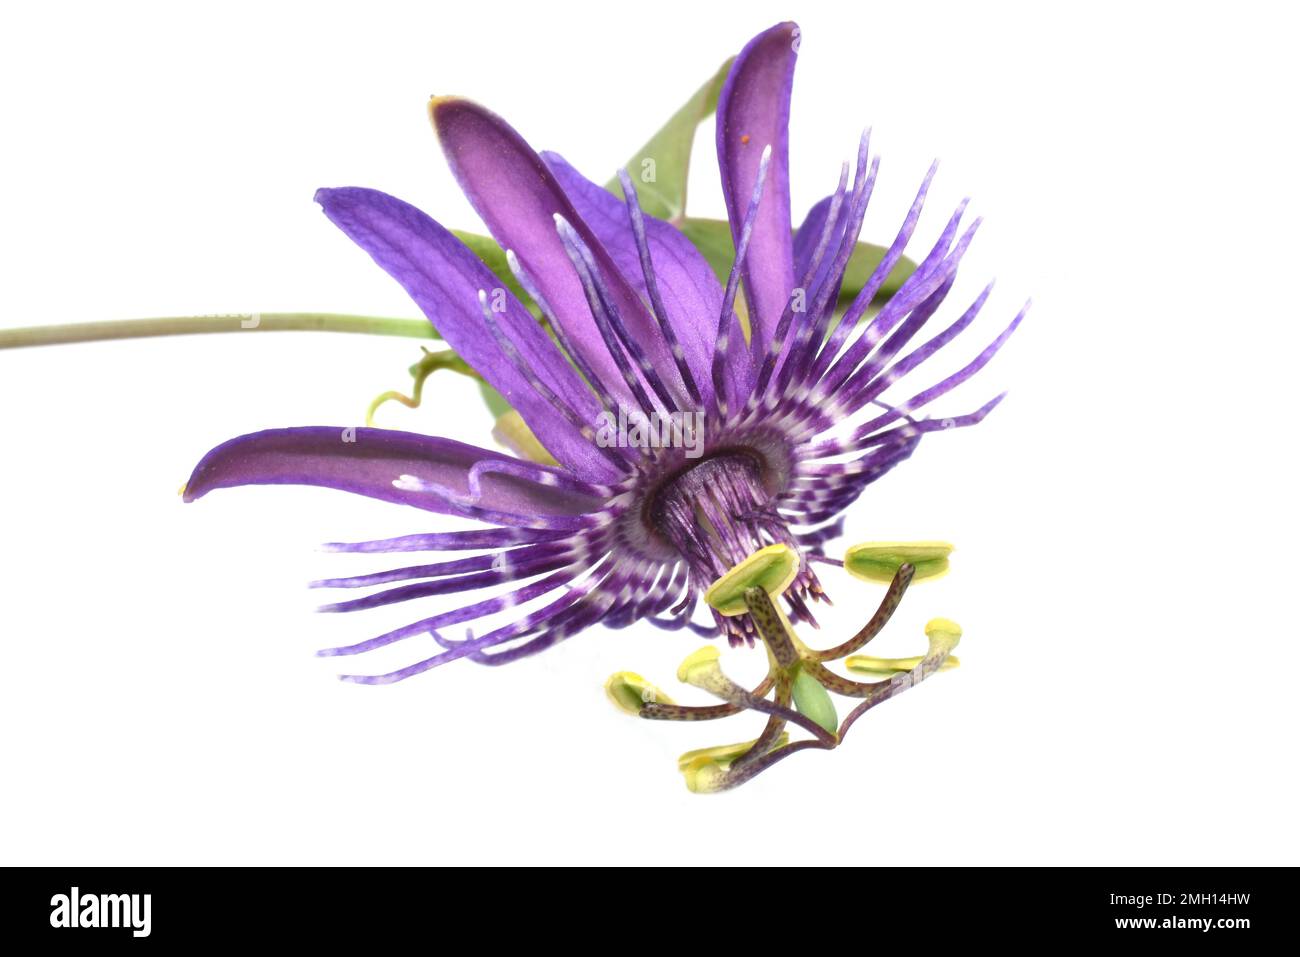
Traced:
<path id="1" fill-rule="evenodd" d="M 412 339 L 438 338 L 433 325 L 425 319 L 341 316 L 330 312 L 254 312 L 242 316 L 169 316 L 166 319 L 122 319 L 107 322 L 0 329 L 0 348 L 57 346 L 99 339 L 138 339 L 151 335 L 289 330 L 404 335 Z"/>

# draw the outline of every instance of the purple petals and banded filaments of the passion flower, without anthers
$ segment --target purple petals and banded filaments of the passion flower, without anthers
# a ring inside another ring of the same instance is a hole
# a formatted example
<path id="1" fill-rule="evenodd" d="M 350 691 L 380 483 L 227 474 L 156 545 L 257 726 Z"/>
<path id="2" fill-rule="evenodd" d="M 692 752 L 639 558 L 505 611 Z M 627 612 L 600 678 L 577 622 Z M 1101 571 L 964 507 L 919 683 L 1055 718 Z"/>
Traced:
<path id="1" fill-rule="evenodd" d="M 186 501 L 239 485 L 318 485 L 482 524 L 329 546 L 476 554 L 316 583 L 381 586 L 328 611 L 508 586 L 321 651 L 352 655 L 421 635 L 445 648 L 390 674 L 344 680 L 398 681 L 467 657 L 502 664 L 598 623 L 618 628 L 649 619 L 753 641 L 751 616 L 712 614 L 701 623 L 694 611 L 715 579 L 770 545 L 803 557 L 783 601 L 792 620 L 811 622 L 810 602 L 823 592 L 807 559 L 820 558 L 823 544 L 838 534 L 841 512 L 923 436 L 975 424 L 1001 399 L 965 415 L 916 416 L 983 368 L 1023 311 L 956 373 L 907 387 L 904 399 L 881 398 L 953 342 L 989 291 L 913 346 L 946 299 L 979 225 L 962 229 L 958 208 L 906 282 L 876 315 L 867 311 L 904 256 L 933 168 L 879 267 L 836 321 L 879 159 L 864 134 L 852 178 L 845 164 L 837 189 L 792 230 L 788 120 L 797 49 L 793 23 L 759 34 L 719 98 L 718 159 L 736 246 L 725 285 L 681 231 L 641 211 L 627 173 L 620 199 L 560 156 L 534 152 L 500 117 L 464 99 L 434 99 L 433 125 L 550 332 L 415 207 L 368 189 L 317 192 L 325 215 L 402 283 L 556 463 L 344 426 L 259 432 L 204 456 Z M 748 329 L 737 315 L 741 290 Z M 610 416 L 684 413 L 702 423 L 689 456 L 680 445 L 597 441 Z M 477 636 L 442 635 L 528 603 L 526 612 L 520 607 L 514 620 Z"/>

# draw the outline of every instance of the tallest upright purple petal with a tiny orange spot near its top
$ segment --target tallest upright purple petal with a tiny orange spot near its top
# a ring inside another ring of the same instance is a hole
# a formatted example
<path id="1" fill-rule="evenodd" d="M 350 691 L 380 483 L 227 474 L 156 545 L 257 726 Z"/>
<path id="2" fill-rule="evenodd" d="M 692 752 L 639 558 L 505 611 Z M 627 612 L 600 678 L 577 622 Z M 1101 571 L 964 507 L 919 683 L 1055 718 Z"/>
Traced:
<path id="1" fill-rule="evenodd" d="M 759 343 L 771 339 L 794 286 L 788 126 L 798 36 L 794 23 L 777 23 L 750 40 L 718 99 L 718 165 L 733 239 L 740 238 L 759 156 L 772 147 L 745 264 L 750 325 Z"/>

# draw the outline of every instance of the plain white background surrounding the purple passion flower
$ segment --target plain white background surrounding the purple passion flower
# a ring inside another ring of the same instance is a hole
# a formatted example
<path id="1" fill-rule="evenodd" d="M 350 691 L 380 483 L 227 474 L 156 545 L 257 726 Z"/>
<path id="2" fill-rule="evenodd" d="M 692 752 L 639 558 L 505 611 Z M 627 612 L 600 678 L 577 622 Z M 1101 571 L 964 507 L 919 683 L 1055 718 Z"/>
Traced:
<path id="1" fill-rule="evenodd" d="M 0 861 L 1296 863 L 1292 12 L 624 8 L 6 8 L 0 324 L 416 316 L 312 192 L 374 186 L 473 226 L 429 94 L 473 96 L 603 179 L 794 17 L 796 217 L 870 124 L 884 165 L 866 238 L 893 235 L 933 156 L 918 243 L 963 195 L 987 216 L 949 308 L 998 289 L 954 360 L 1035 298 L 936 411 L 1010 398 L 872 486 L 845 540 L 958 545 L 879 645 L 916 653 L 946 615 L 962 668 L 842 749 L 718 797 L 686 792 L 676 754 L 757 719 L 640 723 L 601 690 L 630 668 L 696 700 L 672 675 L 698 638 L 592 631 L 508 668 L 341 684 L 316 648 L 429 609 L 313 615 L 308 580 L 385 560 L 315 545 L 439 519 L 328 490 L 183 506 L 177 488 L 230 436 L 359 424 L 417 343 L 3 352 Z M 722 209 L 710 143 L 697 215 Z M 471 385 L 430 382 L 429 399 L 381 421 L 490 445 Z M 879 592 L 827 581 L 831 640 Z"/>

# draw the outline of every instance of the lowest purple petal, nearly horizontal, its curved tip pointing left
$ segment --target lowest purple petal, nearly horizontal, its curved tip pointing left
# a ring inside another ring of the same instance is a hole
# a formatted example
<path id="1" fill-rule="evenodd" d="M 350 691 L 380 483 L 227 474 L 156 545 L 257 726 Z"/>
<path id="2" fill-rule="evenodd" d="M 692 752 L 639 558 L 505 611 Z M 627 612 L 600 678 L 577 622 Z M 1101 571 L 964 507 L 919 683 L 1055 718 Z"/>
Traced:
<path id="1" fill-rule="evenodd" d="M 391 429 L 308 426 L 270 429 L 233 438 L 203 456 L 185 486 L 194 502 L 213 489 L 239 485 L 320 485 L 428 511 L 458 514 L 437 495 L 394 486 L 403 475 L 469 494 L 469 469 L 484 460 L 514 462 L 472 445 Z M 480 476 L 480 498 L 500 511 L 526 515 L 582 515 L 604 502 L 517 476 Z"/>

